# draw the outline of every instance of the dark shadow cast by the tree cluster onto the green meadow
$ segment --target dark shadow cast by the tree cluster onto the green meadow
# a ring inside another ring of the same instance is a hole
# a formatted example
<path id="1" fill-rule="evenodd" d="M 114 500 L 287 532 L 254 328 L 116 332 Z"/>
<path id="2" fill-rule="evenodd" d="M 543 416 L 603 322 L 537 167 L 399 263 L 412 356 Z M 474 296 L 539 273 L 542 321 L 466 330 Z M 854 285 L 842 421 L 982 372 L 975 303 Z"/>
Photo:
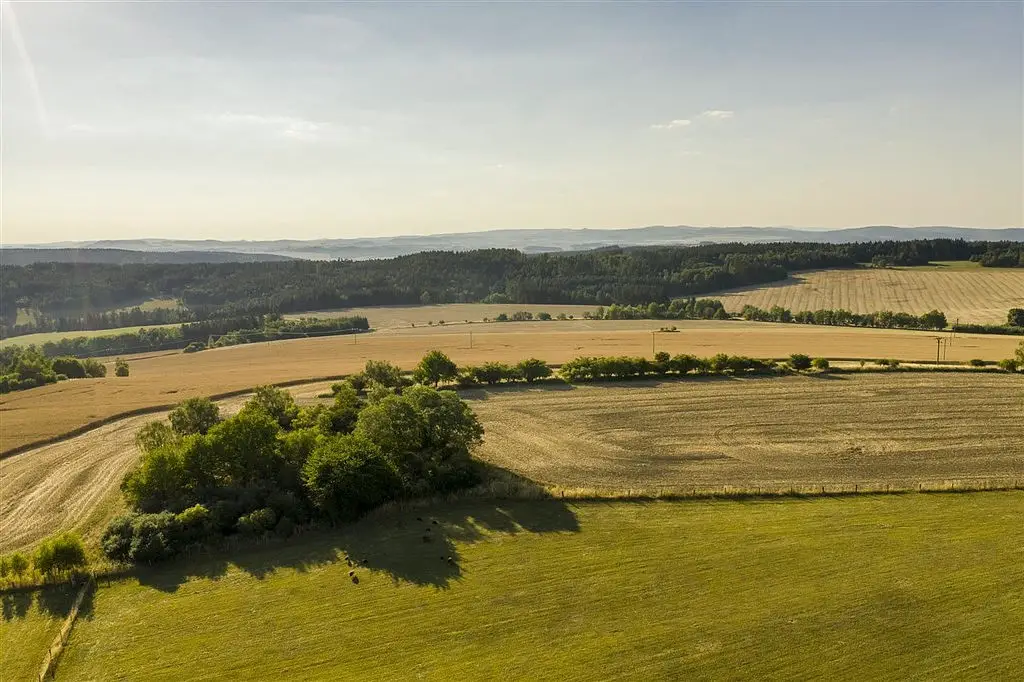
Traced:
<path id="1" fill-rule="evenodd" d="M 505 470 L 493 473 L 500 473 L 506 481 L 518 478 Z M 383 574 L 394 584 L 445 589 L 463 574 L 462 546 L 503 535 L 579 530 L 575 513 L 553 498 L 413 501 L 387 505 L 354 523 L 308 530 L 289 540 L 222 548 L 153 568 L 140 567 L 135 576 L 142 585 L 175 592 L 188 580 L 222 578 L 231 566 L 262 580 L 279 570 L 305 572 L 344 562 L 352 574 L 344 577 L 339 588 L 355 587 Z"/>

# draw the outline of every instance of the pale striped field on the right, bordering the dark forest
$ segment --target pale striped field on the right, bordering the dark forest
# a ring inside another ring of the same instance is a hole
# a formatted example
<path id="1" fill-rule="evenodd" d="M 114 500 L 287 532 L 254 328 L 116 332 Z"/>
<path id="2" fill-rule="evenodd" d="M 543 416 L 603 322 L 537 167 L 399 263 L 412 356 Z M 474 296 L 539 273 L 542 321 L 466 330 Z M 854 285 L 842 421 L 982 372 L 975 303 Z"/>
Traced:
<path id="1" fill-rule="evenodd" d="M 729 312 L 744 305 L 780 305 L 794 312 L 845 308 L 853 312 L 894 310 L 921 314 L 932 309 L 953 323 L 1005 324 L 1007 310 L 1024 307 L 1024 269 L 864 268 L 815 270 L 759 287 L 716 294 Z"/>

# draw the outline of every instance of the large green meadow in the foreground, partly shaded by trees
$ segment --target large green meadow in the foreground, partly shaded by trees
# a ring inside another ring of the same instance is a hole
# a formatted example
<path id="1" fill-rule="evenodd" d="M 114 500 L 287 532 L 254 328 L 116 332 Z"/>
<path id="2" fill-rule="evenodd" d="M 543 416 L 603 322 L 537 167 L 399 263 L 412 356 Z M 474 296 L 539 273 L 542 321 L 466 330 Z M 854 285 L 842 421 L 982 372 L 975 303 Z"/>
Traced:
<path id="1" fill-rule="evenodd" d="M 1022 510 L 1024 493 L 394 511 L 100 587 L 56 678 L 1016 679 Z M 358 585 L 341 552 L 367 558 Z"/>

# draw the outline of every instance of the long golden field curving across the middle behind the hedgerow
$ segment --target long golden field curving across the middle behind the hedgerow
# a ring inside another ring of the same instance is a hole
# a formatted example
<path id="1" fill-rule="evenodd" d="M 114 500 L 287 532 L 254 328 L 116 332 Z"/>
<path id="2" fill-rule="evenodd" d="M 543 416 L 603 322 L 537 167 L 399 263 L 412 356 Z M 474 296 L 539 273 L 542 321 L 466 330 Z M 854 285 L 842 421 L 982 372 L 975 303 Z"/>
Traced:
<path id="1" fill-rule="evenodd" d="M 169 406 L 195 395 L 255 384 L 349 374 L 367 359 L 388 359 L 411 370 L 431 349 L 460 365 L 540 357 L 564 363 L 580 355 L 647 355 L 657 350 L 714 355 L 785 357 L 935 357 L 935 336 L 898 330 L 847 329 L 742 322 L 673 322 L 680 332 L 652 334 L 664 321 L 495 323 L 247 344 L 200 353 L 129 357 L 131 376 L 66 381 L 0 397 L 0 452 L 67 433 L 130 410 Z M 470 348 L 469 331 L 472 331 Z M 998 360 L 1020 338 L 957 335 L 945 357 Z M 113 373 L 111 373 L 113 374 Z"/>

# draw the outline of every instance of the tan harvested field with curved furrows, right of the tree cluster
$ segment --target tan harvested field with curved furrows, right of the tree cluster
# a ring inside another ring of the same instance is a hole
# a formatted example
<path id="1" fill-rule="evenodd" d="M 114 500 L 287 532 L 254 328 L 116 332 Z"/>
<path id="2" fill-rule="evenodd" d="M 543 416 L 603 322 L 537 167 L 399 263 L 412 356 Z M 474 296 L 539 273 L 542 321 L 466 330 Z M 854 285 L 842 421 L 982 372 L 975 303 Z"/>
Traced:
<path id="1" fill-rule="evenodd" d="M 569 488 L 1024 483 L 1024 378 L 1012 375 L 595 384 L 470 403 L 482 459 Z"/>

